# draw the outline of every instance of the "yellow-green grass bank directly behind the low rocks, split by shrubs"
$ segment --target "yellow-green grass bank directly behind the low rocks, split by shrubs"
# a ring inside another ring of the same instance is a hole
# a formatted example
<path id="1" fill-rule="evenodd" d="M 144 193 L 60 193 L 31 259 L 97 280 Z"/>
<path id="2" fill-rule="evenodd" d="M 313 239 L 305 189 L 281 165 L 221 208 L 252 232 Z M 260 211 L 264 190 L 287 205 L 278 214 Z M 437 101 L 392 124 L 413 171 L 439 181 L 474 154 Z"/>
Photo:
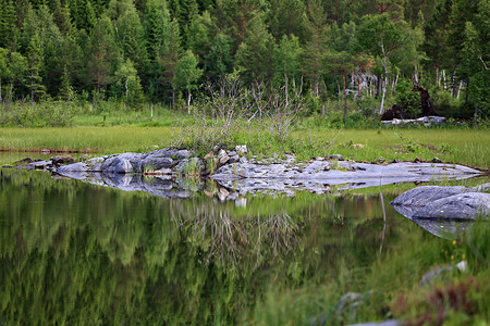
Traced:
<path id="1" fill-rule="evenodd" d="M 41 151 L 44 149 L 108 154 L 125 151 L 145 152 L 171 146 L 180 129 L 148 124 L 126 126 L 76 126 L 69 128 L 2 128 L 0 150 Z M 355 161 L 387 162 L 399 159 L 460 163 L 482 170 L 490 166 L 490 133 L 486 129 L 301 129 L 281 143 L 271 134 L 260 135 L 245 124 L 229 143 L 246 143 L 252 154 L 295 153 L 302 160 L 333 153 Z M 185 145 L 185 143 L 184 143 Z"/>

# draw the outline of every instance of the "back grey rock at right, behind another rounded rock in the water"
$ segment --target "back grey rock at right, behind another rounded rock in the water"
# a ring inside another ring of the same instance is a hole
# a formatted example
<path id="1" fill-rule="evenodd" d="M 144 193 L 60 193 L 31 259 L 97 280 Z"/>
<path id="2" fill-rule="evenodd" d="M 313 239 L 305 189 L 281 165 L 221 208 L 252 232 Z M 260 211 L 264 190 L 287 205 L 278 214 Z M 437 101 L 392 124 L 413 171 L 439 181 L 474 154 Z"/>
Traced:
<path id="1" fill-rule="evenodd" d="M 405 205 L 405 206 L 425 206 L 434 200 L 450 197 L 457 193 L 463 193 L 466 190 L 465 187 L 440 187 L 440 186 L 425 186 L 411 189 L 403 192 L 391 202 L 392 205 Z"/>

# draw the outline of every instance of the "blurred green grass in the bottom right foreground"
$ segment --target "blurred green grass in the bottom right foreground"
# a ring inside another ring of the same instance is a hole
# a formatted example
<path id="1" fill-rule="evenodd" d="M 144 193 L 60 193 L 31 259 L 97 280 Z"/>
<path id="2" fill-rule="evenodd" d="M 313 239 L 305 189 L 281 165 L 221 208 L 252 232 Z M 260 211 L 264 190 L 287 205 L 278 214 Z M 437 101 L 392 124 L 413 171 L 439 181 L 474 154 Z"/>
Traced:
<path id="1" fill-rule="evenodd" d="M 462 241 L 411 235 L 363 269 L 339 268 L 317 287 L 270 288 L 254 312 L 255 325 L 347 325 L 396 318 L 407 325 L 488 325 L 490 321 L 490 224 L 477 222 Z M 408 237 L 408 235 L 407 235 Z M 416 246 L 407 247 L 407 240 Z M 468 262 L 467 273 L 450 272 L 430 285 L 422 275 L 441 265 Z M 364 294 L 358 306 L 341 304 L 348 292 Z M 441 322 L 437 322 L 441 319 Z"/>

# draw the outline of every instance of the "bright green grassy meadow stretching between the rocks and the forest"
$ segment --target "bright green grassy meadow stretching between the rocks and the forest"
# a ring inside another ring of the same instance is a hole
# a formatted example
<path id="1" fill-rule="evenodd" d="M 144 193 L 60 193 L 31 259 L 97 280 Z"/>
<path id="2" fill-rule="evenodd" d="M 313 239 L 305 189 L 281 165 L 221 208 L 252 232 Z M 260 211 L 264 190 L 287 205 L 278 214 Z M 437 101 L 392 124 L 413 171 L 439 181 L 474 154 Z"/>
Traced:
<path id="1" fill-rule="evenodd" d="M 97 153 L 147 151 L 175 143 L 171 138 L 177 138 L 181 130 L 188 130 L 186 126 L 192 122 L 192 116 L 187 114 L 170 112 L 157 105 L 154 106 L 152 115 L 150 106 L 138 112 L 115 110 L 100 114 L 93 114 L 87 109 L 85 113 L 73 117 L 75 127 L 2 128 L 0 150 L 56 149 Z M 217 138 L 213 145 L 247 145 L 252 154 L 287 152 L 296 154 L 299 160 L 333 153 L 362 162 L 377 159 L 384 159 L 385 162 L 413 161 L 415 158 L 430 161 L 438 156 L 443 162 L 482 170 L 489 170 L 490 166 L 490 133 L 486 128 L 383 128 L 366 124 L 362 129 L 338 129 L 306 118 L 284 141 L 271 134 L 267 124 L 267 118 L 260 122 L 240 121 L 237 130 L 231 137 Z M 203 125 L 204 128 L 209 126 L 213 124 Z M 181 146 L 194 147 L 196 141 L 191 138 L 181 137 L 186 139 Z M 207 143 L 207 148 L 212 146 Z"/>

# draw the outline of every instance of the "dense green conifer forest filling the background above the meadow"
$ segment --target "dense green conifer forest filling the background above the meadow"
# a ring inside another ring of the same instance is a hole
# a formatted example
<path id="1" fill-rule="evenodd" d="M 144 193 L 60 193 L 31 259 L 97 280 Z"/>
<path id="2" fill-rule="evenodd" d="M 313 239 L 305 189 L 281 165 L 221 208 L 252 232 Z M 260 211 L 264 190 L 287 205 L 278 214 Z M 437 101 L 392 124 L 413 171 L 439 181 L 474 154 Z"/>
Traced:
<path id="1" fill-rule="evenodd" d="M 414 79 L 439 112 L 485 117 L 489 16 L 489 0 L 0 0 L 0 102 L 173 108 L 232 74 L 380 114 L 416 102 Z"/>

